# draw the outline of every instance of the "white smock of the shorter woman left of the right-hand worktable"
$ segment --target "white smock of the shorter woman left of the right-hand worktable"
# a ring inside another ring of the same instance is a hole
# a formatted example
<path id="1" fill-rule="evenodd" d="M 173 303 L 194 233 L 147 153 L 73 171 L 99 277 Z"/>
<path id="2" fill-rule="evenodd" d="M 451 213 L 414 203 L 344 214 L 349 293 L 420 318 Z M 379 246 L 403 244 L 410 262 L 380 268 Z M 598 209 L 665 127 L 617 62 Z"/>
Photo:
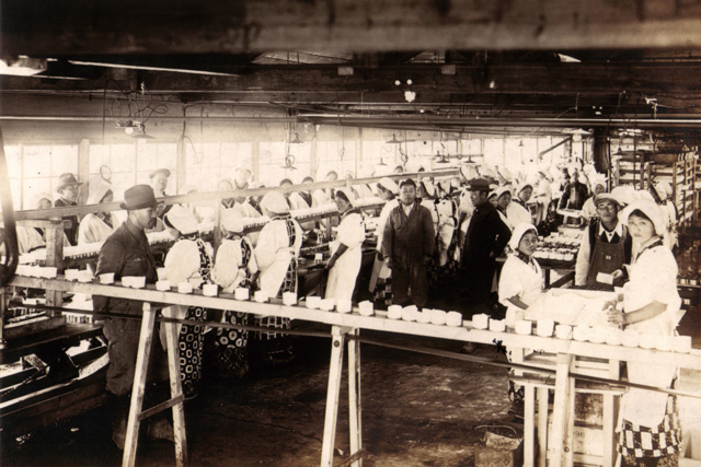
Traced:
<path id="1" fill-rule="evenodd" d="M 508 255 L 504 262 L 499 277 L 498 294 L 499 303 L 507 307 L 507 326 L 515 326 L 518 312 L 522 312 L 508 299 L 518 296 L 522 302 L 532 305 L 543 291 L 543 271 L 536 259 L 532 259 L 532 265 L 527 265 L 516 255 Z"/>

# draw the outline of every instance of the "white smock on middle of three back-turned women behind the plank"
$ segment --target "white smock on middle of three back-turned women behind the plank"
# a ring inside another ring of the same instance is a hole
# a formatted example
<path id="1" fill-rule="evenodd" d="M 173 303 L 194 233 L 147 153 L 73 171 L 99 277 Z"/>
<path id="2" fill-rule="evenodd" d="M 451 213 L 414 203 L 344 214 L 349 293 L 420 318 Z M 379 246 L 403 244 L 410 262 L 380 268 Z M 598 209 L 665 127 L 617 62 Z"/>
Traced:
<path id="1" fill-rule="evenodd" d="M 246 265 L 243 264 L 242 243 L 246 243 L 251 248 L 251 258 Z M 253 245 L 248 237 L 225 240 L 219 245 L 219 249 L 217 249 L 211 280 L 219 284 L 223 292 L 232 293 L 241 281 L 246 278 L 246 272 L 253 276 L 257 270 L 258 266 L 255 262 Z"/>

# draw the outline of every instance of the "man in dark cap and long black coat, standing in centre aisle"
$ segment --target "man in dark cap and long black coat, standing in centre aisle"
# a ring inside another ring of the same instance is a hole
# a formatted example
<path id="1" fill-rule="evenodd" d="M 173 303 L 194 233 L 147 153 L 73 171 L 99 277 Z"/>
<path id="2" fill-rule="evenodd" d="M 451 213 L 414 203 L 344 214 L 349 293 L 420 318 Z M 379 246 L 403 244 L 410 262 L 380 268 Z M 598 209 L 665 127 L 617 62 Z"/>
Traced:
<path id="1" fill-rule="evenodd" d="M 484 178 L 469 182 L 470 200 L 474 212 L 470 219 L 462 254 L 467 303 L 463 315 L 471 318 L 476 313 L 490 314 L 490 294 L 496 270 L 496 257 L 512 237 L 512 231 L 489 202 L 490 184 Z"/>

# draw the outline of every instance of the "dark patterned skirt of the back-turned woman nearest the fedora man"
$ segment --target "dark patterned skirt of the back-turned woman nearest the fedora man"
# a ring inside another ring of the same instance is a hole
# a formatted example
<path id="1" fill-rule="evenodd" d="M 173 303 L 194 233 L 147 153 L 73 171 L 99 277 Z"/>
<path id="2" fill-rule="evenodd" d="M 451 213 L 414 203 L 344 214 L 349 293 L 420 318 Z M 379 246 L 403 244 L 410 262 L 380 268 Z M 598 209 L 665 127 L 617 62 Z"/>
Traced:
<path id="1" fill-rule="evenodd" d="M 207 319 L 207 308 L 191 306 L 185 319 Z M 177 336 L 180 349 L 180 378 L 186 398 L 197 396 L 202 381 L 202 354 L 205 347 L 205 326 L 181 326 Z"/>

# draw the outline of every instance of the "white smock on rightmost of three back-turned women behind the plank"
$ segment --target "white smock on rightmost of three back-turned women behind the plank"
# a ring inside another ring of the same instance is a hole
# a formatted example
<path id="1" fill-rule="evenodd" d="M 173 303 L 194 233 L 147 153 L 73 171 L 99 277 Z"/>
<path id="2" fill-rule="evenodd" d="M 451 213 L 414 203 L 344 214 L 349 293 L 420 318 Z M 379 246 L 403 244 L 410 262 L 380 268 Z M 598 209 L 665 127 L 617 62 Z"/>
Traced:
<path id="1" fill-rule="evenodd" d="M 273 218 L 261 230 L 258 243 L 255 246 L 255 261 L 261 270 L 261 290 L 267 296 L 277 296 L 285 281 L 289 262 L 299 256 L 302 246 L 302 229 L 292 219 L 295 226 L 295 243 L 289 246 L 287 234 L 287 218 Z"/>

